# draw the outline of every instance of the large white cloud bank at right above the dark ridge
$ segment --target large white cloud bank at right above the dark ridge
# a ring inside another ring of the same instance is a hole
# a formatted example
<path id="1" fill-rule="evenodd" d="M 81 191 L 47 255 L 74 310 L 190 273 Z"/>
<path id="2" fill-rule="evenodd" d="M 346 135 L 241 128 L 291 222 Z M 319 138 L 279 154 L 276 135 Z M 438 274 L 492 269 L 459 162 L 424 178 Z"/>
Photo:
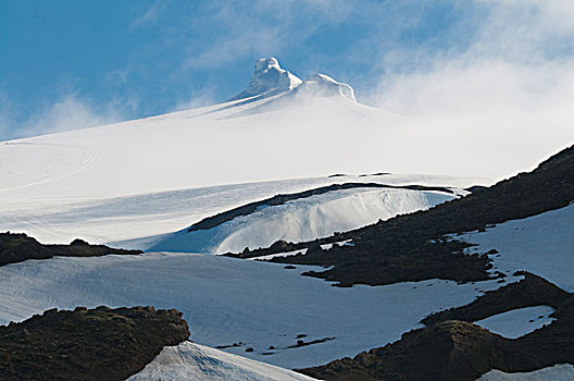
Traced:
<path id="1" fill-rule="evenodd" d="M 383 54 L 419 61 L 379 78 L 371 102 L 411 116 L 402 138 L 437 171 L 511 175 L 574 143 L 574 3 L 475 3 L 487 15 L 466 49 Z"/>

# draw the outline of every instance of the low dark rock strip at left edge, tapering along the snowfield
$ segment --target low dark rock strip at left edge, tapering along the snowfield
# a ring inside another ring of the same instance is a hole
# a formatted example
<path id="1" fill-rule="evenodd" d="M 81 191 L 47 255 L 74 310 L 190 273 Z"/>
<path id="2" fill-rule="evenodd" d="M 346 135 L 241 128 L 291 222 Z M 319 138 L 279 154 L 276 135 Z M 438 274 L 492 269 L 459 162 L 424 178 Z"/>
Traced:
<path id="1" fill-rule="evenodd" d="M 104 245 L 90 245 L 74 239 L 70 245 L 42 245 L 26 234 L 0 233 L 0 266 L 22 262 L 26 259 L 49 259 L 52 257 L 100 257 L 109 254 L 137 255 L 140 250 L 124 250 Z"/>

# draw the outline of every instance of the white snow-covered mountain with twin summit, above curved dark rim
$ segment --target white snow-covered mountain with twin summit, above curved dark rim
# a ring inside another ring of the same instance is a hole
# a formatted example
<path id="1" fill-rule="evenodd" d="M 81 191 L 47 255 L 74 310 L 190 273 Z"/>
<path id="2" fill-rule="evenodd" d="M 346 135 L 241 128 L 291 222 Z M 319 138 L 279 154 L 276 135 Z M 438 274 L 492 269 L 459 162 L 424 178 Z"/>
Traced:
<path id="1" fill-rule="evenodd" d="M 392 148 L 400 142 L 386 138 L 389 130 L 400 128 L 402 118 L 358 103 L 349 85 L 323 74 L 301 82 L 276 59 L 261 59 L 247 89 L 234 99 L 0 143 L 0 228 L 43 243 L 82 237 L 132 245 L 137 239 L 137 247 L 148 248 L 163 234 L 277 193 L 346 182 L 458 189 L 489 183 L 470 176 L 358 176 L 389 172 L 402 160 Z M 333 173 L 350 175 L 326 177 Z M 328 229 L 317 226 L 313 234 L 328 235 L 407 211 L 394 207 L 402 196 L 390 194 L 401 192 L 387 193 L 385 206 L 349 194 L 347 200 L 354 200 L 347 202 L 350 213 L 339 211 Z M 333 195 L 315 200 L 314 208 L 328 209 L 323 204 Z M 430 205 L 413 204 L 408 210 Z M 379 213 L 380 208 L 386 211 Z M 320 223 L 309 217 L 298 221 Z M 269 239 L 309 238 L 288 232 Z"/>

